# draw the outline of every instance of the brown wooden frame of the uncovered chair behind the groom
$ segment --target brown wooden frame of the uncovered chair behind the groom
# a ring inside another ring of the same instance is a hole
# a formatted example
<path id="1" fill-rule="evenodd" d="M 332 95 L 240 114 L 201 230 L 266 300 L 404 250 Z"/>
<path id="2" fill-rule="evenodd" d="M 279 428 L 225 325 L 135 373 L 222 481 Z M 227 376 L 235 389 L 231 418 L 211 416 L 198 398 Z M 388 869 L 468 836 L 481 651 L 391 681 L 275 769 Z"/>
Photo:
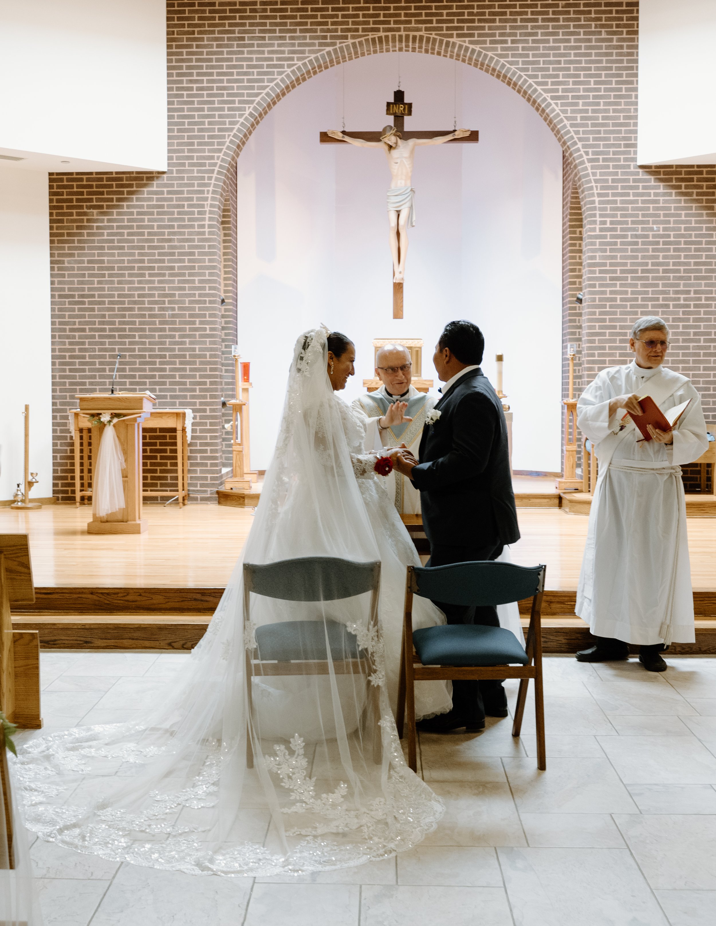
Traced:
<path id="1" fill-rule="evenodd" d="M 517 707 L 512 723 L 512 735 L 519 736 L 522 715 L 527 700 L 527 686 L 534 679 L 534 720 L 537 734 L 537 768 L 546 770 L 545 750 L 545 705 L 542 683 L 542 598 L 545 594 L 546 567 L 542 567 L 539 584 L 532 599 L 530 625 L 527 631 L 526 666 L 423 666 L 413 646 L 413 595 L 418 594 L 415 567 L 408 566 L 406 576 L 405 613 L 403 622 L 403 643 L 400 657 L 400 680 L 397 693 L 397 732 L 403 738 L 406 715 L 408 720 L 408 765 L 418 770 L 415 732 L 415 682 L 456 679 L 459 681 L 481 679 L 520 679 Z"/>

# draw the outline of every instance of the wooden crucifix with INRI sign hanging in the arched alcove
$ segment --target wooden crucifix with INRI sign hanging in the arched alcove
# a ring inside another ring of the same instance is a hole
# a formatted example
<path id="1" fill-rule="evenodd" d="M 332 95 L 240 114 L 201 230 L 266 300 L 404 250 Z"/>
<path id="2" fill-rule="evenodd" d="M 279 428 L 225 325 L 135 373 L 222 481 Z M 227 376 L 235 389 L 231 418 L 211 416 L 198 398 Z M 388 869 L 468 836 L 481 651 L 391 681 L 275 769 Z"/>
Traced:
<path id="1" fill-rule="evenodd" d="M 406 103 L 405 91 L 396 90 L 393 102 L 385 104 L 385 115 L 393 125 L 382 131 L 321 131 L 320 144 L 347 142 L 358 148 L 382 148 L 388 159 L 392 181 L 388 190 L 388 224 L 390 251 L 393 257 L 393 318 L 403 318 L 403 282 L 408 257 L 408 226 L 415 225 L 415 190 L 410 183 L 416 147 L 425 144 L 477 142 L 478 131 L 456 129 L 441 131 L 405 131 L 405 118 L 412 116 L 413 105 Z"/>

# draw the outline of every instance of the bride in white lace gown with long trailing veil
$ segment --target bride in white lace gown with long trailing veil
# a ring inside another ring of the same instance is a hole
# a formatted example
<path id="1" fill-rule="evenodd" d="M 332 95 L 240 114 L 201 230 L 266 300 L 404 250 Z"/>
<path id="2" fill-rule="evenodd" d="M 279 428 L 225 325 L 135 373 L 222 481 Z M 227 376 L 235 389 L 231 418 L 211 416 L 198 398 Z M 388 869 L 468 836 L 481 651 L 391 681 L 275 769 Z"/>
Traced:
<path id="1" fill-rule="evenodd" d="M 442 802 L 405 763 L 389 696 L 405 569 L 419 560 L 363 452 L 364 423 L 333 392 L 352 359 L 347 339 L 328 335 L 295 344 L 254 524 L 188 669 L 142 720 L 21 751 L 26 823 L 44 840 L 157 869 L 257 876 L 391 856 L 440 819 Z M 296 557 L 380 561 L 377 614 L 370 593 L 307 602 L 245 589 L 245 563 Z M 423 605 L 416 622 L 442 619 Z M 262 641 L 297 627 L 312 629 L 322 654 L 282 657 L 287 673 L 270 674 Z M 443 683 L 416 695 L 423 715 L 450 707 Z"/>

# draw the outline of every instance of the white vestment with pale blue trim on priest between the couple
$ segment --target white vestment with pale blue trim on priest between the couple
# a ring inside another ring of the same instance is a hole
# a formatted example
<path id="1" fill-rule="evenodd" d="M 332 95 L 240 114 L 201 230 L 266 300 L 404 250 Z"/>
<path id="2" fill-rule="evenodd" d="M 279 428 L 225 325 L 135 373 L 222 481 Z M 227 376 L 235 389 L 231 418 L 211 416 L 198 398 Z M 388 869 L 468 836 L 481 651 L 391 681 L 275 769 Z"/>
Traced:
<path id="1" fill-rule="evenodd" d="M 352 406 L 369 418 L 366 424 L 366 450 L 381 453 L 383 447 L 399 447 L 400 444 L 406 444 L 412 455 L 420 459 L 418 451 L 425 416 L 433 411 L 439 399 L 439 395 L 420 393 L 415 386 L 410 386 L 408 394 L 401 397 L 401 401 L 408 402 L 406 414 L 412 418 L 412 421 L 409 421 L 407 425 L 381 431 L 378 427 L 378 419 L 383 418 L 388 406 L 396 401 L 396 396 L 389 394 L 383 385 L 373 393 L 358 396 Z M 399 514 L 419 515 L 421 513 L 421 494 L 405 476 L 394 470 L 390 476 L 385 477 L 382 484 L 383 489 L 392 499 L 395 499 Z"/>

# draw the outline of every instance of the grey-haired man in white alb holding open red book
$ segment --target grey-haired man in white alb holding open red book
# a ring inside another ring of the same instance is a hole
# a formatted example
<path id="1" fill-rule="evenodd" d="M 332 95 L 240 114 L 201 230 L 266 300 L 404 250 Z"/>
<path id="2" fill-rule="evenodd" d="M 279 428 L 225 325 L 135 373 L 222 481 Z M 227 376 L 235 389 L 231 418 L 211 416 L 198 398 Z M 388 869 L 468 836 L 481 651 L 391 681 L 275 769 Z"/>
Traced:
<path id="1" fill-rule="evenodd" d="M 695 641 L 680 464 L 700 457 L 709 439 L 696 389 L 663 366 L 668 347 L 664 321 L 639 319 L 629 340 L 634 360 L 602 370 L 577 404 L 599 462 L 576 607 L 597 643 L 577 653 L 581 662 L 625 659 L 627 644 L 639 644 L 645 669 L 661 672 L 666 646 Z M 649 425 L 646 441 L 626 415 L 641 414 L 645 395 L 664 412 L 691 403 L 673 430 Z"/>

